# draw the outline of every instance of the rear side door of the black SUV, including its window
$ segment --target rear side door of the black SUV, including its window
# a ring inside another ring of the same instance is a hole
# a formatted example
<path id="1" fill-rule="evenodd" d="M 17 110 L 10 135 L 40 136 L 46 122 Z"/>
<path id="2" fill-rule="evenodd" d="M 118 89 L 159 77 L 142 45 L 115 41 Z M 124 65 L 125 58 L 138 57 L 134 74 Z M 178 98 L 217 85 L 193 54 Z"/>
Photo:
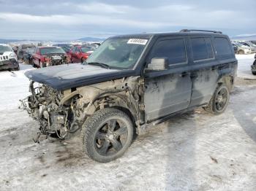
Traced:
<path id="1" fill-rule="evenodd" d="M 189 63 L 192 69 L 192 95 L 189 104 L 191 107 L 210 101 L 219 74 L 211 36 L 191 36 L 189 39 L 192 50 L 192 61 Z"/>

